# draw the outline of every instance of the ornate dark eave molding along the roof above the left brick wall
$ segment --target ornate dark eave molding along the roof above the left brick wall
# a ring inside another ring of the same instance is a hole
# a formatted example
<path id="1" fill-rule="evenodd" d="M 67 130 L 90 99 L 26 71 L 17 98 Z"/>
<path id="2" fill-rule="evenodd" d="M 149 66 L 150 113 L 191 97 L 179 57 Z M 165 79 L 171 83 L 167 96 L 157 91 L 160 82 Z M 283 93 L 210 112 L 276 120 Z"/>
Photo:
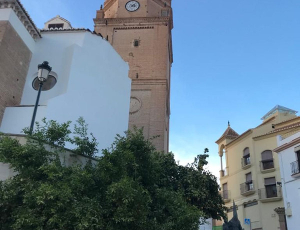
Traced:
<path id="1" fill-rule="evenodd" d="M 12 8 L 31 37 L 34 40 L 36 40 L 38 37 L 41 37 L 38 28 L 35 26 L 28 12 L 25 10 L 19 0 L 0 0 L 0 8 Z"/>

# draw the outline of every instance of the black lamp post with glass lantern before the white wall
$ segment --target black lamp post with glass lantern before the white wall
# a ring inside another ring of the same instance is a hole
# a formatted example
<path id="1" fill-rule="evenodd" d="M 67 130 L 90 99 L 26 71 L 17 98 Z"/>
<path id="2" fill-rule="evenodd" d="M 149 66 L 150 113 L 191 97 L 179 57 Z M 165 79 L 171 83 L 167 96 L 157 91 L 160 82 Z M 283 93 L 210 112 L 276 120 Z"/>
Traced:
<path id="1" fill-rule="evenodd" d="M 36 97 L 36 101 L 35 101 L 35 105 L 34 105 L 34 110 L 33 110 L 33 114 L 32 114 L 31 124 L 30 124 L 30 128 L 29 128 L 29 134 L 32 134 L 36 110 L 37 110 L 37 106 L 38 106 L 38 101 L 39 101 L 39 96 L 40 96 L 40 91 L 41 91 L 42 85 L 48 79 L 49 72 L 52 69 L 49 66 L 48 61 L 43 61 L 42 64 L 37 65 L 37 68 L 38 68 L 37 80 L 39 82 L 39 85 L 38 85 L 38 92 L 37 92 L 37 97 Z"/>

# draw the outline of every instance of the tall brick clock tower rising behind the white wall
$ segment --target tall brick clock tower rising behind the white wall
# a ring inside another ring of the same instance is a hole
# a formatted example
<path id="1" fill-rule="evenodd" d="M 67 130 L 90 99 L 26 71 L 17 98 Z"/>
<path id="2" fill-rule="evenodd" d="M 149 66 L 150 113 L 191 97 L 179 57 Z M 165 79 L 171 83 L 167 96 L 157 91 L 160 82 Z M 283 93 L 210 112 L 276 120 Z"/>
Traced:
<path id="1" fill-rule="evenodd" d="M 105 0 L 97 10 L 95 31 L 129 64 L 129 129 L 144 127 L 157 150 L 168 151 L 171 0 Z"/>

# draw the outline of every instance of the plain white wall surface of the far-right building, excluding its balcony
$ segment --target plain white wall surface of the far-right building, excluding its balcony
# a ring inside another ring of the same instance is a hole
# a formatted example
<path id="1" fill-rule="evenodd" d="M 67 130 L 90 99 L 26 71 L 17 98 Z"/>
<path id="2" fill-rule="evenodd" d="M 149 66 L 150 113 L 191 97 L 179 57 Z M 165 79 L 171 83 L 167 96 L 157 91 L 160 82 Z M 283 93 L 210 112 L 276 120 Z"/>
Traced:
<path id="1" fill-rule="evenodd" d="M 288 143 L 299 136 L 300 132 L 297 132 L 281 140 L 280 135 L 278 135 L 277 145 L 280 146 L 282 144 Z M 290 208 L 292 213 L 291 216 L 286 215 L 287 229 L 298 229 L 299 222 L 298 217 L 300 213 L 300 176 L 292 177 L 290 166 L 290 163 L 296 160 L 294 147 L 298 145 L 299 144 L 295 144 L 278 152 L 285 212 L 287 212 L 287 208 Z"/>

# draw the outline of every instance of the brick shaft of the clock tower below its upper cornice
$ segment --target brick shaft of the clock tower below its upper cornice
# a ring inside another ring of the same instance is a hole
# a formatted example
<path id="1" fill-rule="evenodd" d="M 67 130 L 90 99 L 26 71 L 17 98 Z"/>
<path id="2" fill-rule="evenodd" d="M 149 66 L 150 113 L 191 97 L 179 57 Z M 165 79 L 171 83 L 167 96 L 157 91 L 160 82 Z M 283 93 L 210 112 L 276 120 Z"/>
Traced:
<path id="1" fill-rule="evenodd" d="M 109 20 L 109 19 L 108 19 Z M 168 150 L 169 121 L 169 27 L 164 23 L 97 25 L 96 32 L 108 41 L 129 64 L 131 97 L 141 101 L 138 111 L 129 114 L 128 128 L 144 128 L 146 138 L 159 135 L 152 142 L 158 150 Z M 137 27 L 137 28 L 136 28 Z M 146 28 L 145 28 L 146 27 Z M 134 41 L 138 46 L 134 46 Z"/>

